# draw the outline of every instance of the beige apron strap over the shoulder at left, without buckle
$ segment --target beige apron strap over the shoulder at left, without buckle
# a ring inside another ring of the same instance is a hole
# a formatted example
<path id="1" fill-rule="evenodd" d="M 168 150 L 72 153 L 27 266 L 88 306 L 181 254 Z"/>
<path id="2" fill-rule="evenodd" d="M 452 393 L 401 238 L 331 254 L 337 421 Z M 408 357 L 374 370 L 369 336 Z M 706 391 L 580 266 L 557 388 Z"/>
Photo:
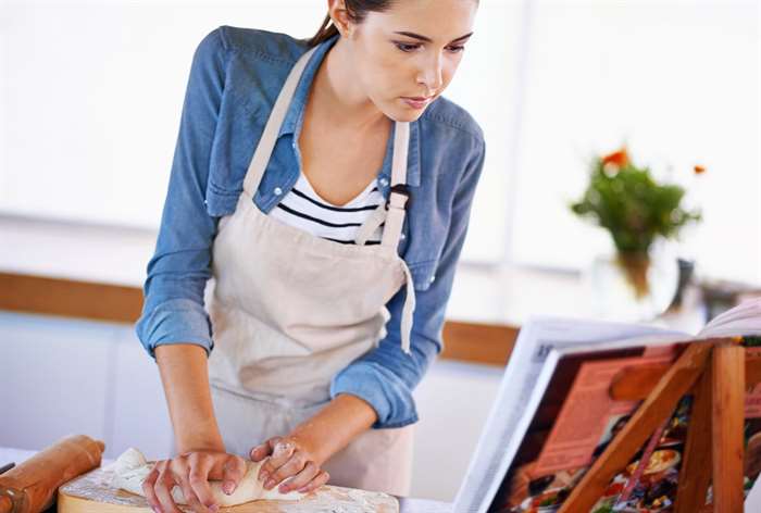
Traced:
<path id="1" fill-rule="evenodd" d="M 296 62 L 294 67 L 288 74 L 279 95 L 277 95 L 277 100 L 275 100 L 275 107 L 273 107 L 270 117 L 264 126 L 264 132 L 259 140 L 257 150 L 253 153 L 251 163 L 249 164 L 248 171 L 246 172 L 246 178 L 244 178 L 244 191 L 251 198 L 253 198 L 254 192 L 259 188 L 259 184 L 264 176 L 264 171 L 270 162 L 270 157 L 272 151 L 275 149 L 275 142 L 277 142 L 277 134 L 280 130 L 280 125 L 283 120 L 285 120 L 286 113 L 288 112 L 288 105 L 294 97 L 296 87 L 299 84 L 299 78 L 303 73 L 309 58 L 315 52 L 319 46 L 313 47 L 307 53 L 301 55 Z"/>

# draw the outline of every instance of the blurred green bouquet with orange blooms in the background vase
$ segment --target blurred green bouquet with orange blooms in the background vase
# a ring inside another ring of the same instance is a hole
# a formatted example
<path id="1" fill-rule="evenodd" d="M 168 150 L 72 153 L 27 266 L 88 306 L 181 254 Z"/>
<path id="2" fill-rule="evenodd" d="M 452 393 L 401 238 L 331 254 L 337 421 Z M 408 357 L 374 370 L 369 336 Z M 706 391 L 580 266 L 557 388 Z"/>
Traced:
<path id="1" fill-rule="evenodd" d="M 695 173 L 703 171 L 695 167 Z M 625 277 L 635 301 L 646 301 L 652 279 L 658 279 L 652 276 L 659 274 L 653 268 L 653 249 L 668 248 L 663 242 L 701 220 L 700 211 L 681 207 L 684 195 L 681 186 L 659 184 L 648 167 L 635 165 L 624 147 L 594 159 L 584 195 L 570 205 L 575 214 L 608 230 L 615 248 L 611 264 Z M 676 270 L 675 256 L 666 264 Z"/>

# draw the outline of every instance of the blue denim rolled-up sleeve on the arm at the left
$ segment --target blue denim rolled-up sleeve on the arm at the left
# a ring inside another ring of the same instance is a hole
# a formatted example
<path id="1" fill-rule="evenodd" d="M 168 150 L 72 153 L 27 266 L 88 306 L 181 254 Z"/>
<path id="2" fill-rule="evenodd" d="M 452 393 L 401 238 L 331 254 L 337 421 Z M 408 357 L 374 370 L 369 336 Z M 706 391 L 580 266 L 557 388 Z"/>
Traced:
<path id="1" fill-rule="evenodd" d="M 204 36 L 192 57 L 155 252 L 147 266 L 135 331 L 153 359 L 161 345 L 196 343 L 207 355 L 213 349 L 203 291 L 219 220 L 207 213 L 204 198 L 227 64 L 221 30 Z"/>

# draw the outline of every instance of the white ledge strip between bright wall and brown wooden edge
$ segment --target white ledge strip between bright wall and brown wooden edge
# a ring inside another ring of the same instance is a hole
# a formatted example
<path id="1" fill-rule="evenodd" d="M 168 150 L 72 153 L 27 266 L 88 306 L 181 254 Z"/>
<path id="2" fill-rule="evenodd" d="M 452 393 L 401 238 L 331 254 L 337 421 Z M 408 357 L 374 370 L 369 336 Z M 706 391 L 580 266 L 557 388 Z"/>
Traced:
<path id="1" fill-rule="evenodd" d="M 0 272 L 141 288 L 157 232 L 0 213 Z M 461 262 L 447 318 L 520 326 L 531 315 L 594 317 L 579 273 Z M 657 324 L 694 333 L 699 312 Z"/>

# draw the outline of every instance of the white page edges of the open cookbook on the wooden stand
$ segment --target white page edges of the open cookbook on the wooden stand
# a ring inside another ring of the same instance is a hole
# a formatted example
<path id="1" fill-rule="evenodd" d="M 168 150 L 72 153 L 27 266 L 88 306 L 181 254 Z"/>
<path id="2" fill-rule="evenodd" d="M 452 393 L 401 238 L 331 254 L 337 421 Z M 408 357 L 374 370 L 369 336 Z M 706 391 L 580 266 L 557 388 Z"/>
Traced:
<path id="1" fill-rule="evenodd" d="M 751 299 L 716 316 L 695 337 L 651 325 L 558 317 L 531 318 L 519 334 L 498 396 L 454 500 L 454 511 L 487 511 L 527 436 L 528 426 L 561 354 L 637 346 L 654 347 L 691 339 L 741 335 L 761 336 L 761 299 Z M 761 403 L 754 392 L 749 396 L 746 405 L 748 412 L 761 413 Z M 615 412 L 609 413 L 613 415 L 609 422 L 614 423 Z M 612 425 L 609 424 L 608 427 L 612 428 Z M 761 439 L 759 451 L 761 460 Z M 662 454 L 664 453 L 660 453 Z"/>

